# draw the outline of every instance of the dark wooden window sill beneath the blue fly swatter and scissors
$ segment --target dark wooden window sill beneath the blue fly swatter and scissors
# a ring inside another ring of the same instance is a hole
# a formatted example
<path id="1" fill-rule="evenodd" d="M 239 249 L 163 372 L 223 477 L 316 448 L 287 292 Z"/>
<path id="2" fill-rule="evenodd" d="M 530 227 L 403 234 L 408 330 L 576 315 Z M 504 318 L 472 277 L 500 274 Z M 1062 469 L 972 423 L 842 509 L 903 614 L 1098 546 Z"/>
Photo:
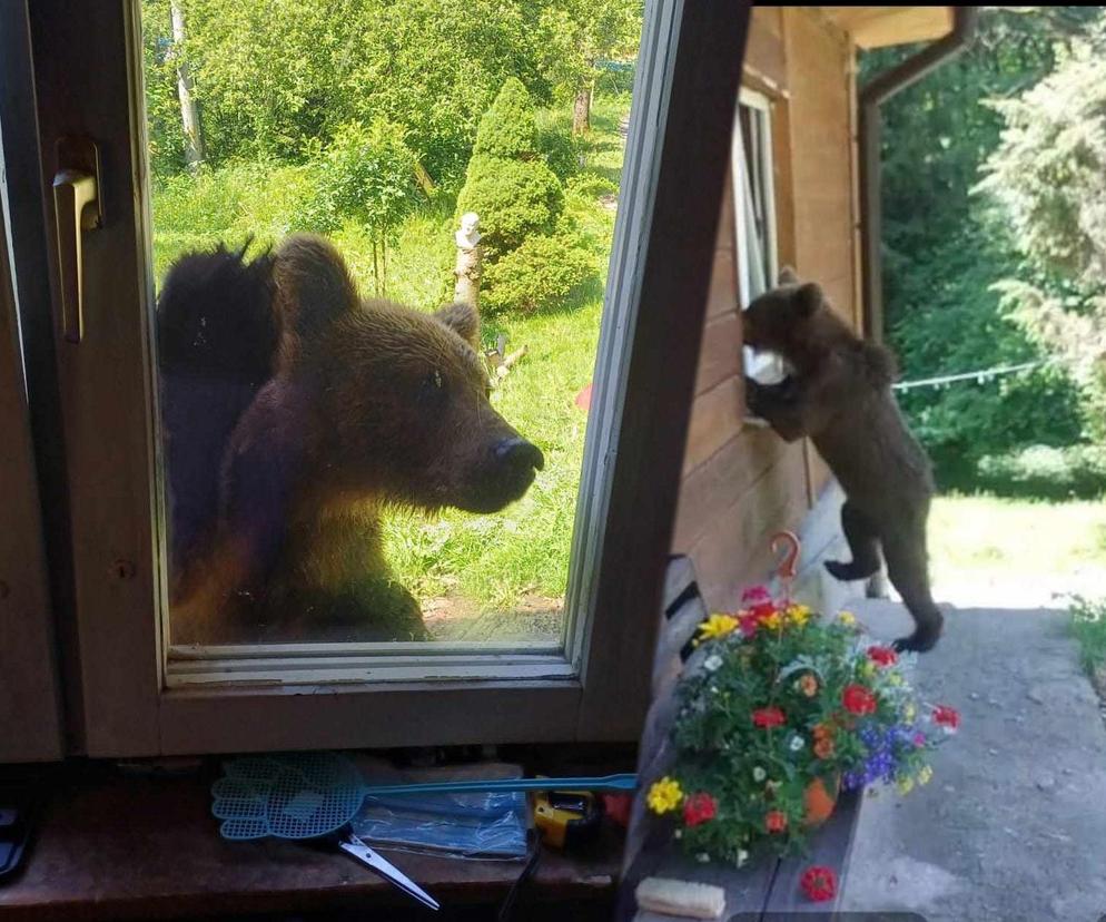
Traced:
<path id="1" fill-rule="evenodd" d="M 433 915 L 336 850 L 224 841 L 210 815 L 210 781 L 118 775 L 67 781 L 42 812 L 20 876 L 0 886 L 0 918 L 197 919 L 377 906 L 393 908 L 389 919 L 407 910 L 414 918 Z M 545 850 L 520 903 L 613 906 L 622 846 L 621 831 L 608 826 L 586 852 Z M 497 904 L 523 866 L 382 854 L 446 911 Z M 526 918 L 529 910 L 520 905 L 519 912 Z"/>

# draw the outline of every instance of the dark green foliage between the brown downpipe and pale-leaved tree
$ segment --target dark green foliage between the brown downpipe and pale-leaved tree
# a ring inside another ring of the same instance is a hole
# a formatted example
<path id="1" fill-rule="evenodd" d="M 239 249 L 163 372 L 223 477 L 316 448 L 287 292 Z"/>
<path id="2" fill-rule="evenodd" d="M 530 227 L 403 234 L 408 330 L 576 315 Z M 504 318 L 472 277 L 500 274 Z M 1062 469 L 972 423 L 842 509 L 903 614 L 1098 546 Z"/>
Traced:
<path id="1" fill-rule="evenodd" d="M 975 45 L 882 107 L 883 281 L 888 340 L 906 379 L 1051 357 L 991 286 L 1021 262 L 1008 222 L 969 190 L 1004 120 L 982 105 L 1016 95 L 1063 57 L 1084 8 L 984 8 Z M 862 79 L 916 47 L 861 58 Z M 1011 322 L 1013 321 L 1013 322 Z M 970 487 L 979 459 L 1084 438 L 1090 409 L 1063 367 L 901 394 L 939 480 Z"/>

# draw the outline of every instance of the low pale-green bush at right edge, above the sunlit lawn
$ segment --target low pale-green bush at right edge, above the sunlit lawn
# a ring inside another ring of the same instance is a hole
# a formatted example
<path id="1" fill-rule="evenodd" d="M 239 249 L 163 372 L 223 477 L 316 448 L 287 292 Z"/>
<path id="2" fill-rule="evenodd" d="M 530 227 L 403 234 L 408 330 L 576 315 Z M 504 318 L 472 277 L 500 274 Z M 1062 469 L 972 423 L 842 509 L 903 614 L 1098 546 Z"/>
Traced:
<path id="1" fill-rule="evenodd" d="M 986 455 L 978 464 L 979 487 L 1001 496 L 1038 499 L 1094 499 L 1106 493 L 1106 449 L 1053 448 Z"/>

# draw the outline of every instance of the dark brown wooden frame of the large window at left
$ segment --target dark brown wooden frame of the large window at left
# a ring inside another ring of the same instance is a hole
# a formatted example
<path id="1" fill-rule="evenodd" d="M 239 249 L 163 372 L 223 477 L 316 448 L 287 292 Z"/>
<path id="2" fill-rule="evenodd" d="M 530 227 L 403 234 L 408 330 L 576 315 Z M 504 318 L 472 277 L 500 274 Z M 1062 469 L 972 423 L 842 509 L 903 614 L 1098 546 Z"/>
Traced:
<path id="1" fill-rule="evenodd" d="M 729 148 L 729 119 L 718 114 L 733 108 L 748 13 L 747 3 L 724 11 L 683 0 L 646 4 L 612 255 L 620 268 L 609 285 L 587 424 L 583 483 L 590 488 L 577 498 L 576 521 L 591 527 L 574 531 L 567 591 L 592 620 L 570 619 L 574 646 L 560 657 L 574 674 L 554 674 L 556 664 L 541 653 L 507 664 L 504 657 L 524 656 L 504 650 L 484 657 L 495 677 L 460 679 L 431 665 L 423 675 L 393 673 L 387 681 L 369 668 L 326 684 L 308 670 L 296 683 L 259 676 L 226 685 L 207 677 L 168 687 L 157 616 L 166 581 L 138 3 L 32 4 L 43 185 L 57 169 L 53 150 L 63 135 L 96 138 L 105 165 L 105 227 L 86 235 L 86 339 L 58 350 L 60 388 L 70 396 L 63 412 L 70 467 L 81 472 L 70 492 L 89 754 L 636 737 L 699 341 L 684 333 L 660 376 L 659 350 L 650 345 L 670 341 L 689 322 L 701 327 Z M 715 57 L 704 62 L 704 49 Z M 73 72 L 86 78 L 79 95 L 71 92 Z M 703 163 L 692 197 L 699 204 L 690 208 L 689 156 Z M 52 203 L 47 213 L 52 239 Z M 48 249 L 56 278 L 57 254 Z M 658 409 L 666 411 L 660 421 Z M 231 661 L 241 667 L 249 658 Z M 500 677 L 504 665 L 520 668 Z"/>

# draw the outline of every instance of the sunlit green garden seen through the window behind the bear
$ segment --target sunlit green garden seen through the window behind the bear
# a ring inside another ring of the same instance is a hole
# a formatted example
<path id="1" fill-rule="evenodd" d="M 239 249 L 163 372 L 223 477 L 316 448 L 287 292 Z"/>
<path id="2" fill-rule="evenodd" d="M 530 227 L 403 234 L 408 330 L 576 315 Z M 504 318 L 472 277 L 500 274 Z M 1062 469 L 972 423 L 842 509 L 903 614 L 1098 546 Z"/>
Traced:
<path id="1" fill-rule="evenodd" d="M 186 252 L 328 235 L 362 292 L 453 297 L 481 217 L 495 409 L 545 455 L 504 512 L 393 510 L 443 640 L 559 641 L 640 3 L 142 3 L 157 278 Z M 502 354 L 502 352 L 501 352 Z"/>

